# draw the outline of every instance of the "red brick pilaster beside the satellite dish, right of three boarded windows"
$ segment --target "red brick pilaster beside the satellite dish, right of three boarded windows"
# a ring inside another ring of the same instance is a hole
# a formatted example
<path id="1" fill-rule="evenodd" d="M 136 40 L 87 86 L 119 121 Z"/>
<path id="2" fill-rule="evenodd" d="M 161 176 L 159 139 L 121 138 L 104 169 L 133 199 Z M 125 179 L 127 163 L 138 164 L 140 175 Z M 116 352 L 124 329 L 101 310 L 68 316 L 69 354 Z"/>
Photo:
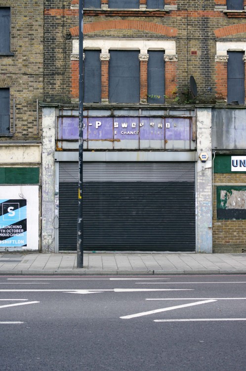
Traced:
<path id="1" fill-rule="evenodd" d="M 177 92 L 177 55 L 164 55 L 165 61 L 165 95 L 173 99 Z"/>

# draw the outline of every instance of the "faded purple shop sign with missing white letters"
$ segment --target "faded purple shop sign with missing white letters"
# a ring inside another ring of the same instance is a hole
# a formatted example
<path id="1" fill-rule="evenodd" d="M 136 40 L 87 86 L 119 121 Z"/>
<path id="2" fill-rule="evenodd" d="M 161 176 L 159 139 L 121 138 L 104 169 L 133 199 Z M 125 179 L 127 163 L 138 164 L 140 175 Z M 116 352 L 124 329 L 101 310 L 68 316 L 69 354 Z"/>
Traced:
<path id="1" fill-rule="evenodd" d="M 87 140 L 190 140 L 189 118 L 84 117 Z M 58 139 L 79 139 L 79 118 L 59 117 Z"/>

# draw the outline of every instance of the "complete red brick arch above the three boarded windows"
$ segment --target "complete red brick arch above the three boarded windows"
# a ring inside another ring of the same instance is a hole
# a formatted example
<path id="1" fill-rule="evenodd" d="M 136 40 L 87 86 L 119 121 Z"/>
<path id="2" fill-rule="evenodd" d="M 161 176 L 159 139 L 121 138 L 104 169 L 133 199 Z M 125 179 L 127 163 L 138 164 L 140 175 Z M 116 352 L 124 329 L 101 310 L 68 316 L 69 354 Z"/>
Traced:
<path id="1" fill-rule="evenodd" d="M 135 20 L 112 20 L 102 22 L 86 23 L 83 33 L 88 34 L 103 30 L 143 30 L 168 37 L 177 36 L 178 30 L 173 27 L 163 26 L 159 23 L 135 21 Z M 79 36 L 79 26 L 70 28 L 71 35 Z"/>

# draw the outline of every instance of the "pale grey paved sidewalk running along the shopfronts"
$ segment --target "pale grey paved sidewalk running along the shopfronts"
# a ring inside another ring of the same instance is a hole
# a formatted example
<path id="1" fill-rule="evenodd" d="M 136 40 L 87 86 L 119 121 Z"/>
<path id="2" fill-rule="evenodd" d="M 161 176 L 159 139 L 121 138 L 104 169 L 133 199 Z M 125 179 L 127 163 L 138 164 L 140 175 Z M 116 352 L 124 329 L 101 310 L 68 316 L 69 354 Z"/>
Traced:
<path id="1" fill-rule="evenodd" d="M 0 275 L 246 274 L 246 253 L 0 253 Z"/>

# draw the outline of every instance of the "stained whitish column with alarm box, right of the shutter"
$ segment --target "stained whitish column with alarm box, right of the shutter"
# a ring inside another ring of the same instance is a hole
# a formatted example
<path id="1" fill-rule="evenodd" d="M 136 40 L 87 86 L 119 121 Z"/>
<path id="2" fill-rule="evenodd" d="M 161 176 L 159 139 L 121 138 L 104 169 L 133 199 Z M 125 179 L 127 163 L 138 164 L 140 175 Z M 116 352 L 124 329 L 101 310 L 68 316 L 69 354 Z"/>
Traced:
<path id="1" fill-rule="evenodd" d="M 211 108 L 197 108 L 197 252 L 212 253 L 212 140 Z"/>

